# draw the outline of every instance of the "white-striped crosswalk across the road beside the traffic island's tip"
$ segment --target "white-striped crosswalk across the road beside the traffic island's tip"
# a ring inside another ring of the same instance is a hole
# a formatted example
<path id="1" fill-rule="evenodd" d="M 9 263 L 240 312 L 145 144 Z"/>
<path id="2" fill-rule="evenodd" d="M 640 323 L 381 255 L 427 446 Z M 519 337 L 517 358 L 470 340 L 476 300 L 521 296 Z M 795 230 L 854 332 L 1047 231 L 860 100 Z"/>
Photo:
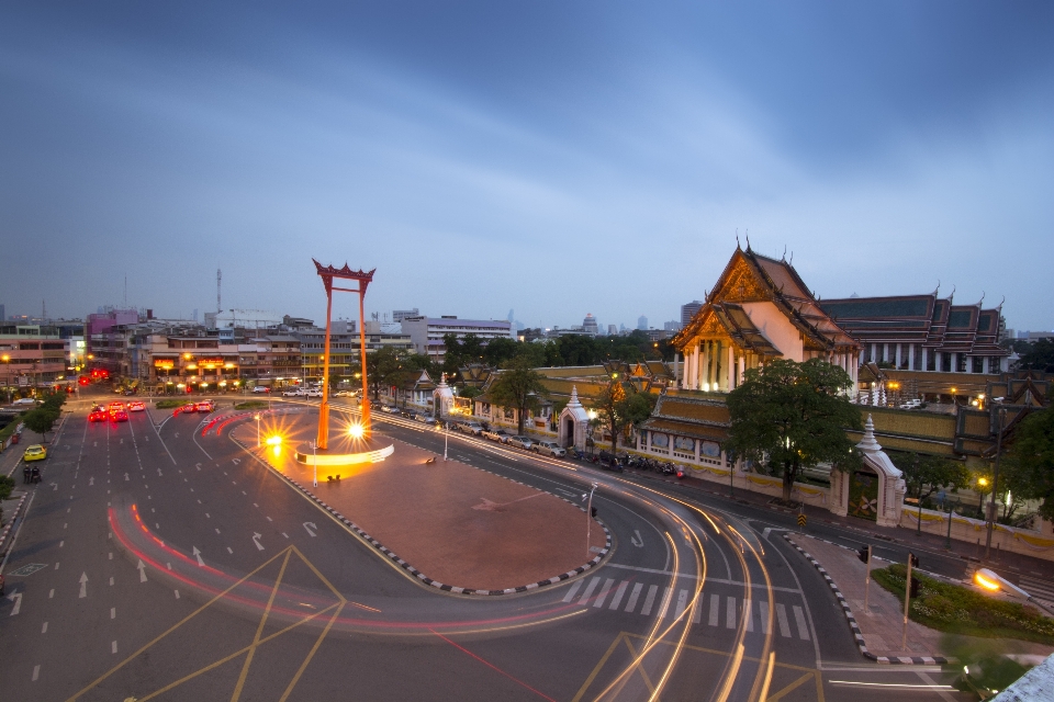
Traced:
<path id="1" fill-rule="evenodd" d="M 583 585 L 585 588 L 583 589 Z M 647 589 L 646 589 L 647 588 Z M 692 603 L 692 590 L 687 588 L 663 587 L 623 580 L 616 584 L 615 578 L 595 576 L 583 578 L 574 582 L 563 596 L 564 602 L 575 602 L 595 609 L 608 609 L 628 613 L 638 613 L 641 616 L 659 619 L 675 619 L 684 613 Z M 625 601 L 625 607 L 623 602 Z M 637 604 L 640 609 L 637 609 Z M 722 608 L 724 604 L 724 608 Z M 769 602 L 754 602 L 732 596 L 721 596 L 716 592 L 699 595 L 699 603 L 692 613 L 695 624 L 703 623 L 703 615 L 707 615 L 707 626 L 721 626 L 721 609 L 725 610 L 725 629 L 737 629 L 739 622 L 745 620 L 748 632 L 769 633 Z M 805 619 L 805 611 L 797 604 L 790 605 L 790 615 L 794 618 L 798 638 L 810 641 L 809 626 Z M 756 626 L 755 626 L 756 612 Z M 783 602 L 775 603 L 775 626 L 781 636 L 793 638 L 790 616 Z"/>

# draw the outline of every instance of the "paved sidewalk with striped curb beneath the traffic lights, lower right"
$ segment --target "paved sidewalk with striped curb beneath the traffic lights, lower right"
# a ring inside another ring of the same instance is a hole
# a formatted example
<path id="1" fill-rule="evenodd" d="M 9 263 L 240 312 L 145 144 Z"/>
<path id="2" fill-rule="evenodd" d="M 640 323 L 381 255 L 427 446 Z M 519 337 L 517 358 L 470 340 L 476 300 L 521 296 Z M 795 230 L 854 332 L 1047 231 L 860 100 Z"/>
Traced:
<path id="1" fill-rule="evenodd" d="M 856 552 L 804 534 L 788 534 L 787 541 L 822 566 L 837 590 L 842 593 L 842 605 L 848 609 L 845 615 L 850 626 L 855 623 L 860 630 L 857 645 L 861 653 L 868 658 L 877 658 L 879 663 L 945 661 L 946 652 L 941 645 L 945 634 L 912 621 L 908 622 L 907 649 L 900 648 L 904 635 L 904 602 L 874 579 L 868 590 L 868 607 L 864 610 L 867 566 L 857 558 Z M 872 564 L 873 568 L 885 567 L 885 562 L 878 558 L 875 561 L 879 563 Z M 1032 655 L 1049 656 L 1054 653 L 1054 647 L 1042 644 L 1014 641 L 1013 645 Z"/>

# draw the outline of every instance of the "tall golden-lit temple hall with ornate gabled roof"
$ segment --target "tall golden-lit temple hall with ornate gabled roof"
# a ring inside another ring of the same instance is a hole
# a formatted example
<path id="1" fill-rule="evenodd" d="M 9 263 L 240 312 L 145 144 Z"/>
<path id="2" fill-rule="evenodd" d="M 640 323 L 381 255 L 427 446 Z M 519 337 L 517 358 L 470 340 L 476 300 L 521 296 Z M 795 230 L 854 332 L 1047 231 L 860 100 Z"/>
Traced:
<path id="1" fill-rule="evenodd" d="M 717 285 L 671 342 L 684 354 L 684 389 L 728 393 L 772 359 L 820 358 L 856 382 L 860 344 L 785 260 L 737 247 Z"/>

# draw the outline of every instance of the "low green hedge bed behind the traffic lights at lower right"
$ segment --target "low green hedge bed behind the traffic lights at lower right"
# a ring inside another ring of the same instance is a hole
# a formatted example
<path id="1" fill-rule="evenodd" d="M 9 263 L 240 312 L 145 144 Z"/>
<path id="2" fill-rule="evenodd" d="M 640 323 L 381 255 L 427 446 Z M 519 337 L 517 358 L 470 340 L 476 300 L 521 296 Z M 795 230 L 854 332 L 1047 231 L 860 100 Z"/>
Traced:
<path id="1" fill-rule="evenodd" d="M 904 602 L 907 568 L 894 564 L 871 571 L 875 582 Z M 1020 638 L 1054 644 L 1054 620 L 1034 607 L 995 599 L 977 590 L 911 571 L 919 597 L 911 600 L 909 616 L 930 629 L 985 638 Z"/>

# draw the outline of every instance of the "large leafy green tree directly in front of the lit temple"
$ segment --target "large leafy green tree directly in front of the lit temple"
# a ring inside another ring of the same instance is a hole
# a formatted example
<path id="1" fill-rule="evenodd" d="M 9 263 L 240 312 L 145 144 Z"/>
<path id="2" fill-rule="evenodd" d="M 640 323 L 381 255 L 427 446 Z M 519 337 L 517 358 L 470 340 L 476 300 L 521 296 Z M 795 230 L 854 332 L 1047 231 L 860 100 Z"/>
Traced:
<path id="1" fill-rule="evenodd" d="M 726 452 L 783 473 L 783 499 L 801 468 L 851 460 L 846 429 L 860 429 L 860 409 L 845 390 L 852 378 L 841 367 L 810 359 L 770 361 L 747 371 L 742 385 L 728 394 L 731 416 Z"/>

